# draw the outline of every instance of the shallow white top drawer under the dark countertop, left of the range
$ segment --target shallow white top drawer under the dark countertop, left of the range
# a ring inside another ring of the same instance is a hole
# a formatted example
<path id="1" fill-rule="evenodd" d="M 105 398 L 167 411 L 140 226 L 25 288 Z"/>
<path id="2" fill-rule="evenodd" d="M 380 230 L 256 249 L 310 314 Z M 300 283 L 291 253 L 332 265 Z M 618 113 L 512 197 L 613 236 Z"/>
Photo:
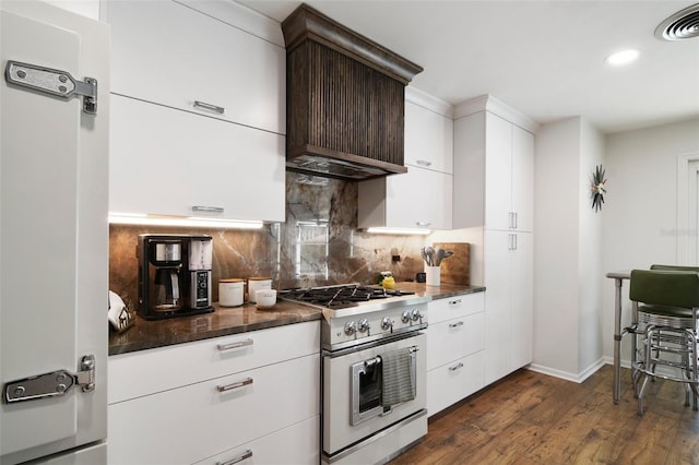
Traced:
<path id="1" fill-rule="evenodd" d="M 111 356 L 108 403 L 319 351 L 320 324 L 312 321 Z"/>

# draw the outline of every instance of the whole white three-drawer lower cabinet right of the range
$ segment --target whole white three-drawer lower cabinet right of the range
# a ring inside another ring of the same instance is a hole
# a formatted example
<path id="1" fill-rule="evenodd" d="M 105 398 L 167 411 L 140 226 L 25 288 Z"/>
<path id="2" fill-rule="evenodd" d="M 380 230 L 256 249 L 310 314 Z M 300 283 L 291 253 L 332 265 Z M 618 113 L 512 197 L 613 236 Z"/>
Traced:
<path id="1" fill-rule="evenodd" d="M 433 416 L 482 389 L 484 293 L 433 300 L 427 329 L 427 410 Z"/>

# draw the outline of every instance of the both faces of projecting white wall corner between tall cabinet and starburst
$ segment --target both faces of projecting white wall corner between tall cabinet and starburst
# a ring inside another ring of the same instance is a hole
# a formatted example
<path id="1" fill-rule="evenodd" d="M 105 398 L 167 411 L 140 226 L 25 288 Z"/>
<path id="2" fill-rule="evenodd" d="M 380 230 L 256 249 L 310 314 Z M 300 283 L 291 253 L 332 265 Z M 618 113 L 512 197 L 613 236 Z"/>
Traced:
<path id="1" fill-rule="evenodd" d="M 590 176 L 604 162 L 602 135 L 577 117 L 536 134 L 534 362 L 582 381 L 602 361 L 602 213 Z"/>

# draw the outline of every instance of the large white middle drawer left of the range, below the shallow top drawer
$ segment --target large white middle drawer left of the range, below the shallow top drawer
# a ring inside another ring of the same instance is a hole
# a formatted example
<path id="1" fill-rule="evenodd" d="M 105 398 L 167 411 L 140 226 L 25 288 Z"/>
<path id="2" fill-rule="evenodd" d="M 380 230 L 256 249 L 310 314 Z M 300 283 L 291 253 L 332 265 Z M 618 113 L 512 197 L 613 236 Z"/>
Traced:
<path id="1" fill-rule="evenodd" d="M 108 461 L 191 464 L 315 418 L 319 377 L 312 355 L 111 404 Z"/>

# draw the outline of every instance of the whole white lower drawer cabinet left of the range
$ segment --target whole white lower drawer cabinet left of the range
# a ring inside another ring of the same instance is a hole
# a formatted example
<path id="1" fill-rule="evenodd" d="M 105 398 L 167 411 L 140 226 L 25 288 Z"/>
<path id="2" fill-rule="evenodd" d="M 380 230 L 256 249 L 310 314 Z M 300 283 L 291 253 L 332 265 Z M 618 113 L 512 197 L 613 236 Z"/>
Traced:
<path id="1" fill-rule="evenodd" d="M 298 327 L 294 326 L 312 330 L 309 341 L 297 341 Z M 293 324 L 288 326 L 288 334 L 284 329 L 286 326 L 245 333 L 242 336 L 251 336 L 253 344 L 241 346 L 241 351 L 232 350 L 224 363 L 229 372 L 213 378 L 202 374 L 197 382 L 188 377 L 191 363 L 187 361 L 200 357 L 201 343 L 205 343 L 211 345 L 212 359 L 202 363 L 216 366 L 220 360 L 214 355 L 228 351 L 222 347 L 229 345 L 229 337 L 192 343 L 193 358 L 182 353 L 188 344 L 173 346 L 169 362 L 159 365 L 152 362 L 165 360 L 167 348 L 112 357 L 115 366 L 120 366 L 115 372 L 121 377 L 111 381 L 110 375 L 110 391 L 112 383 L 116 391 L 126 392 L 120 385 L 138 385 L 141 381 L 156 385 L 149 378 L 173 381 L 154 393 L 132 393 L 125 401 L 110 400 L 108 463 L 213 464 L 245 457 L 239 463 L 317 464 L 319 324 Z M 257 337 L 265 332 L 274 337 Z M 288 347 L 296 345 L 307 347 L 307 354 L 298 355 L 295 350 L 289 355 Z M 257 359 L 262 365 L 248 367 L 246 359 L 254 358 L 256 353 L 269 354 L 270 348 L 275 353 L 274 359 L 264 356 Z M 125 369 L 125 358 L 135 367 L 132 375 Z M 150 372 L 138 368 L 143 366 L 150 366 Z"/>

